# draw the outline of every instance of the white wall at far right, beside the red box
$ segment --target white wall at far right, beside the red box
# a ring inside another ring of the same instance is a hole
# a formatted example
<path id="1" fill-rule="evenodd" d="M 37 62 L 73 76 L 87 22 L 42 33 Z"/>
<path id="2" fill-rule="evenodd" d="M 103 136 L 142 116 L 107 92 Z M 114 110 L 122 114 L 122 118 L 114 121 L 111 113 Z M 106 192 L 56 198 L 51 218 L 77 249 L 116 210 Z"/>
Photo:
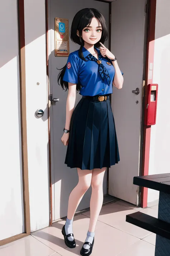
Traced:
<path id="1" fill-rule="evenodd" d="M 156 125 L 151 126 L 149 175 L 170 172 L 170 1 L 157 0 L 153 83 L 158 84 Z M 148 189 L 148 202 L 159 192 Z"/>

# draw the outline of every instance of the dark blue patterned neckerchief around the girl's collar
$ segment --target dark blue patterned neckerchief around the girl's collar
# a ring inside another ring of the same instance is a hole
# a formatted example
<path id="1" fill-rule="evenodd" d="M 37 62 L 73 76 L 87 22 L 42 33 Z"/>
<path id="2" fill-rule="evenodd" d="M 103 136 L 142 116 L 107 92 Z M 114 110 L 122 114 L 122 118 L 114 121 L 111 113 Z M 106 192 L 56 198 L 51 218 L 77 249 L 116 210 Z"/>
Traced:
<path id="1" fill-rule="evenodd" d="M 99 60 L 101 62 L 101 59 L 103 59 L 103 56 L 98 53 L 99 56 Z M 98 61 L 98 59 L 96 59 L 91 53 L 86 57 L 89 60 L 93 60 L 93 61 Z M 108 84 L 110 85 L 110 76 L 109 76 L 109 72 L 107 71 L 107 69 L 105 68 L 105 66 L 102 63 L 98 63 L 99 67 L 98 67 L 98 72 L 102 78 L 102 80 L 104 81 L 104 78 L 106 78 L 106 80 L 108 81 Z"/>

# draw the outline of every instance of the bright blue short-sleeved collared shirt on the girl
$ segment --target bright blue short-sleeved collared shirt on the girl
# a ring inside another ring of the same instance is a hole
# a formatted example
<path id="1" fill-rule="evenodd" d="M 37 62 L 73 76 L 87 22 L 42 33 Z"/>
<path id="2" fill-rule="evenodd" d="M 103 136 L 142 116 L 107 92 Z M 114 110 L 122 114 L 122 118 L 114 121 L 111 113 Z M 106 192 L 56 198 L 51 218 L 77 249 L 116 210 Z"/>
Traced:
<path id="1" fill-rule="evenodd" d="M 100 50 L 95 47 L 100 54 Z M 86 48 L 82 48 L 84 58 L 90 54 Z M 110 84 L 104 78 L 102 80 L 100 73 L 98 72 L 98 63 L 96 61 L 88 60 L 84 61 L 79 57 L 79 50 L 76 50 L 69 54 L 67 60 L 67 67 L 63 77 L 63 81 L 70 82 L 72 84 L 81 84 L 80 95 L 103 95 L 113 93 L 113 80 L 115 75 L 115 69 L 113 64 L 107 64 L 108 59 L 102 57 L 101 63 L 107 69 L 110 76 Z M 122 72 L 122 71 L 121 71 Z M 123 72 L 122 72 L 123 75 Z"/>

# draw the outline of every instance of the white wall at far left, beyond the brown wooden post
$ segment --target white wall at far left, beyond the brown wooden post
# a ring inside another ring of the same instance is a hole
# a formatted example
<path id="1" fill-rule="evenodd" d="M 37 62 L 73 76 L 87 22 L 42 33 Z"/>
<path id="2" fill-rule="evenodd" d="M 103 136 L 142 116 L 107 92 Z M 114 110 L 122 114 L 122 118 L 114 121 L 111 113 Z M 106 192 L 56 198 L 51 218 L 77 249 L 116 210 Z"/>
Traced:
<path id="1" fill-rule="evenodd" d="M 0 240 L 3 240 L 24 232 L 16 0 L 0 2 L 0 24 Z"/>

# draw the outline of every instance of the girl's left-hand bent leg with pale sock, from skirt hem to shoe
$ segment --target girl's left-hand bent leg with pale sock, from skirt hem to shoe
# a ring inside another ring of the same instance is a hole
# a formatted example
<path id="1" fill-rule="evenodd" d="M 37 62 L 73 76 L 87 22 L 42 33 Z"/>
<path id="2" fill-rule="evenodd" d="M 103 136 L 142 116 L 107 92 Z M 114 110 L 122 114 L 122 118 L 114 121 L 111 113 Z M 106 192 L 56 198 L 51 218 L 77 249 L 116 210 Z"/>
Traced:
<path id="1" fill-rule="evenodd" d="M 79 206 L 79 203 L 81 202 L 82 197 L 91 185 L 91 177 L 93 170 L 81 170 L 80 168 L 77 168 L 77 172 L 79 175 L 79 182 L 76 185 L 76 187 L 71 191 L 69 196 L 67 219 L 65 224 L 66 235 L 73 233 L 73 217 L 77 207 Z M 68 237 L 68 239 L 72 241 L 74 238 L 71 236 Z"/>

